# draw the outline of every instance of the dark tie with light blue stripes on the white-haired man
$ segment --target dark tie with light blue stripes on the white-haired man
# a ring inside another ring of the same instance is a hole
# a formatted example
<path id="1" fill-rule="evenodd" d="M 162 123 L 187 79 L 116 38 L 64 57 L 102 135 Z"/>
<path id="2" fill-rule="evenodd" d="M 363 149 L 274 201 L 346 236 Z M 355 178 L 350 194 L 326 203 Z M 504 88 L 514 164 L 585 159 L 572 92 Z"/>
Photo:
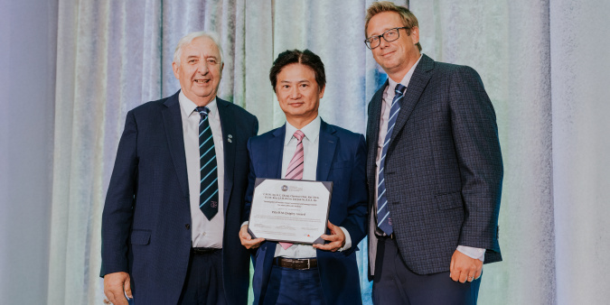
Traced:
<path id="1" fill-rule="evenodd" d="M 203 215 L 211 219 L 218 213 L 218 173 L 216 163 L 216 151 L 214 149 L 214 139 L 211 135 L 208 107 L 197 107 L 199 112 L 199 164 L 201 166 L 201 187 L 199 193 L 199 208 Z"/>

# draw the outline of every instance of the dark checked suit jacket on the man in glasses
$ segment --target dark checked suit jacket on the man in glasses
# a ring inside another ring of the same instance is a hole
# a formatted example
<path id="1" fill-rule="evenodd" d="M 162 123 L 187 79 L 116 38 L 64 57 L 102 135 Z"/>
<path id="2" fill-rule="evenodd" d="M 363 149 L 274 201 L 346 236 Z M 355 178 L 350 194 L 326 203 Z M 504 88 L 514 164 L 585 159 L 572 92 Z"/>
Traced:
<path id="1" fill-rule="evenodd" d="M 387 86 L 388 82 L 369 104 L 370 208 Z M 485 263 L 502 260 L 497 226 L 502 154 L 492 102 L 474 69 L 422 55 L 408 83 L 385 162 L 392 226 L 410 270 L 449 271 L 457 245 L 487 249 Z M 369 226 L 369 251 L 376 251 L 373 229 Z"/>

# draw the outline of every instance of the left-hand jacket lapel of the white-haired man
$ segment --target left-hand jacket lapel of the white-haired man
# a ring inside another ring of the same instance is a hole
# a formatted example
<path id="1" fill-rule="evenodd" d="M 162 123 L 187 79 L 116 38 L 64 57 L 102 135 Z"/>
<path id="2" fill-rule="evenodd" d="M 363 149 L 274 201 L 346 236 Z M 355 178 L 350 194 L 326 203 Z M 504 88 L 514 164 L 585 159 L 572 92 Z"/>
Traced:
<path id="1" fill-rule="evenodd" d="M 168 97 L 164 102 L 165 108 L 162 110 L 164 127 L 169 144 L 170 154 L 174 162 L 174 168 L 178 175 L 180 187 L 183 195 L 189 195 L 188 174 L 186 172 L 186 155 L 184 153 L 183 120 L 180 115 L 180 103 L 178 102 L 178 91 L 174 96 Z"/>

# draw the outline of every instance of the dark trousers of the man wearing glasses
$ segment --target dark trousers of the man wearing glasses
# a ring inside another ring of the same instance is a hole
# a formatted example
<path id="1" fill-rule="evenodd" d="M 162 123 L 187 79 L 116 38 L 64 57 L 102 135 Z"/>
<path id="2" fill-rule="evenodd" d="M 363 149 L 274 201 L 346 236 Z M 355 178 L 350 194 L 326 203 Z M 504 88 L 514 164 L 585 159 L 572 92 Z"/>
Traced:
<path id="1" fill-rule="evenodd" d="M 480 285 L 481 277 L 461 283 L 451 280 L 449 272 L 413 273 L 402 260 L 395 240 L 379 240 L 373 276 L 373 304 L 474 305 Z"/>

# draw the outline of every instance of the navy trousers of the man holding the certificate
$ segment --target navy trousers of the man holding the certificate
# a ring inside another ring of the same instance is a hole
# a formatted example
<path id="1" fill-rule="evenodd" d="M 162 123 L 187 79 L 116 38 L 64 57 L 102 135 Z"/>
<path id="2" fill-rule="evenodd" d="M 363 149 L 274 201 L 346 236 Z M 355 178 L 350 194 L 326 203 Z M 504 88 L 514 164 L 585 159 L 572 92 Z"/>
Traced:
<path id="1" fill-rule="evenodd" d="M 273 265 L 263 304 L 324 304 L 318 269 Z"/>

